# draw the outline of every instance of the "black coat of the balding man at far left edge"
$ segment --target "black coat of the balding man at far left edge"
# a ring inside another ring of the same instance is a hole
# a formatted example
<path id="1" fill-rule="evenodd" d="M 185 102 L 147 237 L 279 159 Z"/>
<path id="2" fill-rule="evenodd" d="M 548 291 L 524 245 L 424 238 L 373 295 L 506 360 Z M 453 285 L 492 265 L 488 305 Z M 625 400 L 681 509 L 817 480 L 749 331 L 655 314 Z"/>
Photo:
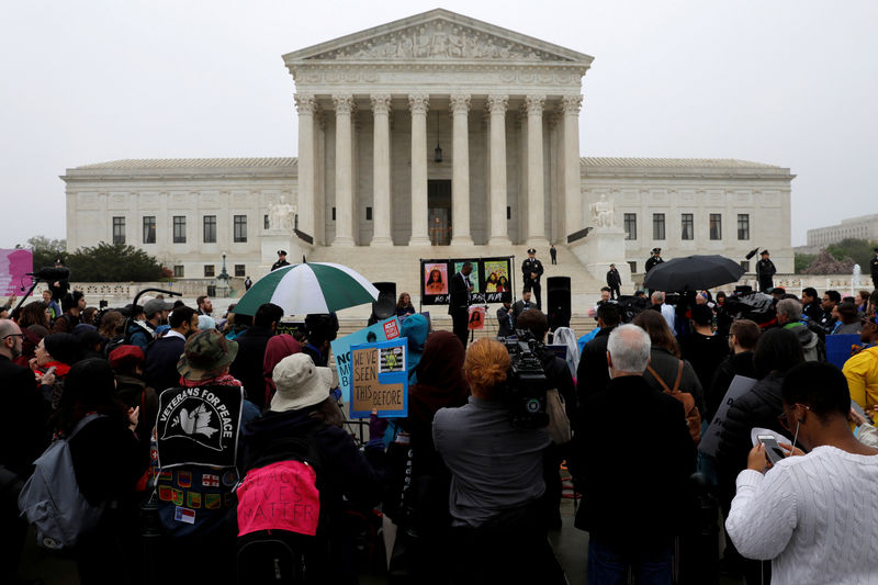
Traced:
<path id="1" fill-rule="evenodd" d="M 0 465 L 27 479 L 32 463 L 48 446 L 45 432 L 48 404 L 36 386 L 30 368 L 0 356 L 0 389 L 3 395 L 3 424 L 0 425 Z"/>

